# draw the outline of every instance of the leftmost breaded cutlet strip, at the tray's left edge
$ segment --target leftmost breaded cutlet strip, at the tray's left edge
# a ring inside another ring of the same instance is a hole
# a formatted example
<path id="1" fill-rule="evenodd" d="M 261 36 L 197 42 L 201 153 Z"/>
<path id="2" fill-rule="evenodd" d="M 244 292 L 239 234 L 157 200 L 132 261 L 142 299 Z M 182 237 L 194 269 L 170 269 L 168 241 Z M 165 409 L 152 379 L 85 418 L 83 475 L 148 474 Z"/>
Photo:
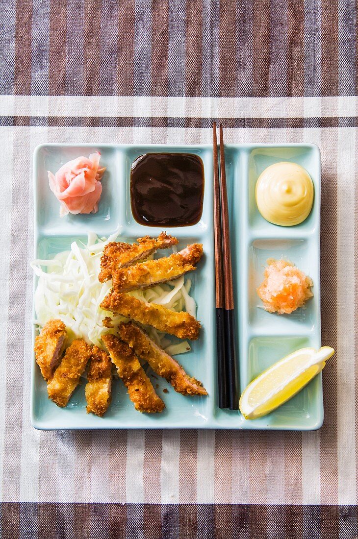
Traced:
<path id="1" fill-rule="evenodd" d="M 50 382 L 60 362 L 66 337 L 65 324 L 61 320 L 49 320 L 35 339 L 36 363 L 46 382 Z"/>

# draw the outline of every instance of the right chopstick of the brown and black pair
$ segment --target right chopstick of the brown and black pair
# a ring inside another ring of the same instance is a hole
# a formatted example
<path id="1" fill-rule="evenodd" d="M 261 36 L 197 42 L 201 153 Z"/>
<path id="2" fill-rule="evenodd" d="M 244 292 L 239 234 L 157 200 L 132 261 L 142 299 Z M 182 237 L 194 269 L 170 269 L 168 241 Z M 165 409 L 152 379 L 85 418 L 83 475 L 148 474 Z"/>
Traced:
<path id="1" fill-rule="evenodd" d="M 225 152 L 223 126 L 220 124 L 220 186 L 221 186 L 221 222 L 223 242 L 223 273 L 224 273 L 224 327 L 225 327 L 225 357 L 228 365 L 228 388 L 230 410 L 238 410 L 238 376 L 236 363 L 235 341 L 235 306 L 233 301 L 232 264 L 230 249 L 230 225 L 228 209 L 228 192 L 226 189 Z"/>

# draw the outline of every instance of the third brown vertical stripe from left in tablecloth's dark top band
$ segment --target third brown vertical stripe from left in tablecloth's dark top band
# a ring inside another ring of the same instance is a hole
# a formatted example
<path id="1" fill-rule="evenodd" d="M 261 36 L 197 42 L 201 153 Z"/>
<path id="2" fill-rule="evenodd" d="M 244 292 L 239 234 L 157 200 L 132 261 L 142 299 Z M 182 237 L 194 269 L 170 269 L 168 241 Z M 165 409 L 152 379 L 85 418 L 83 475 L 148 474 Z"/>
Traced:
<path id="1" fill-rule="evenodd" d="M 101 3 L 85 0 L 84 93 L 99 95 L 101 65 Z"/>

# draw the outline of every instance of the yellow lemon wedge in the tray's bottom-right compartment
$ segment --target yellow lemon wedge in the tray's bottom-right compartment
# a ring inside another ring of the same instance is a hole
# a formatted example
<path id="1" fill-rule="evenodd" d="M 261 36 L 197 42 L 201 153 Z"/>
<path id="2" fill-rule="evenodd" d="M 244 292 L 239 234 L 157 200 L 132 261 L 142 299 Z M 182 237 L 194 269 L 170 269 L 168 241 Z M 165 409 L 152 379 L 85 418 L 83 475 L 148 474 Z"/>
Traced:
<path id="1" fill-rule="evenodd" d="M 272 412 L 301 391 L 323 369 L 334 350 L 323 346 L 301 348 L 274 363 L 254 378 L 240 397 L 245 419 L 256 419 Z"/>

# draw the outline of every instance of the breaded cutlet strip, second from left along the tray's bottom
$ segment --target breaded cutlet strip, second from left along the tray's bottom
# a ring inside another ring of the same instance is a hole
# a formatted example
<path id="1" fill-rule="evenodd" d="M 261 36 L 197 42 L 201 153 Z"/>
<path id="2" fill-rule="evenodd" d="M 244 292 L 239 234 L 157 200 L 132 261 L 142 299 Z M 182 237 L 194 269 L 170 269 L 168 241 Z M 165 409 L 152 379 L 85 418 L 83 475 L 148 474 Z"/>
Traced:
<path id="1" fill-rule="evenodd" d="M 82 339 L 75 339 L 67 348 L 66 354 L 54 371 L 47 385 L 47 393 L 57 406 L 67 406 L 73 391 L 77 388 L 82 372 L 91 357 L 92 347 Z"/>

